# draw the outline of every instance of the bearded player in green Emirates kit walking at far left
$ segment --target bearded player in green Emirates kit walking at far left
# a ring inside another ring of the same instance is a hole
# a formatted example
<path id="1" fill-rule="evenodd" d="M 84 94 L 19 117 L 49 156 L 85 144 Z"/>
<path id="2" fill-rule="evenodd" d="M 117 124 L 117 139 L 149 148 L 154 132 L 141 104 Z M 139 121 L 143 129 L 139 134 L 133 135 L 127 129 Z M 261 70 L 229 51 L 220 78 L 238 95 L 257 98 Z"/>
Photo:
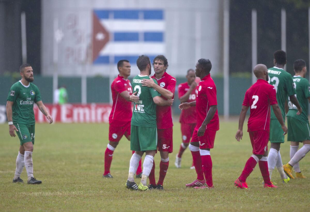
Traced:
<path id="1" fill-rule="evenodd" d="M 16 170 L 13 183 L 23 183 L 20 174 L 26 167 L 28 184 L 40 184 L 42 181 L 33 177 L 32 152 L 34 144 L 34 113 L 33 103 L 38 105 L 40 111 L 47 117 L 50 124 L 53 118 L 43 105 L 41 94 L 33 83 L 33 70 L 31 65 L 20 66 L 21 80 L 12 85 L 7 97 L 7 120 L 9 133 L 15 137 L 15 132 L 20 139 L 20 149 L 16 158 Z"/>

